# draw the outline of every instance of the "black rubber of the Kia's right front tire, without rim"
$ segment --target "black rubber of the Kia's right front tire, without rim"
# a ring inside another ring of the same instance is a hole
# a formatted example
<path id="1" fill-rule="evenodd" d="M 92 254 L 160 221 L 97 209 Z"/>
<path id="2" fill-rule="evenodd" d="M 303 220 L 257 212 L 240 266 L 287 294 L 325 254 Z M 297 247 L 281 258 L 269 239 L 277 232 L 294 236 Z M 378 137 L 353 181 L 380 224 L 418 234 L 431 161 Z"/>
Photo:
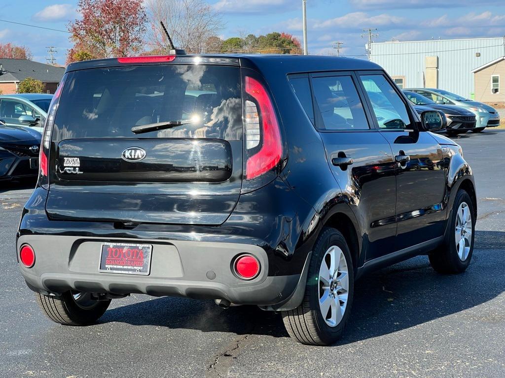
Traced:
<path id="1" fill-rule="evenodd" d="M 468 255 L 464 260 L 458 255 L 458 246 L 456 245 L 456 226 L 458 209 L 461 204 L 467 204 L 470 219 L 472 221 L 471 243 Z M 452 206 L 451 214 L 448 220 L 447 234 L 444 242 L 429 255 L 431 267 L 440 274 L 458 274 L 464 272 L 470 265 L 472 260 L 474 239 L 475 239 L 475 211 L 473 208 L 472 199 L 466 191 L 460 189 L 456 194 L 454 205 Z"/>

